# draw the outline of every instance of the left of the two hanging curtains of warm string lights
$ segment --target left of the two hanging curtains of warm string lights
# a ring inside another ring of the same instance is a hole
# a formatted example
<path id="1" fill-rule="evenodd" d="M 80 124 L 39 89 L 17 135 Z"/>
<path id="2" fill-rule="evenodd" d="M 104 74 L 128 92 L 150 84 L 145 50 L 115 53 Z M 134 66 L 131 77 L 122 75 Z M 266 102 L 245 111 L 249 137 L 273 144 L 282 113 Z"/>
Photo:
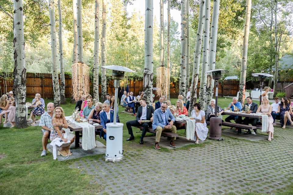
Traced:
<path id="1" fill-rule="evenodd" d="M 75 101 L 81 99 L 83 94 L 89 94 L 89 66 L 83 62 L 75 63 L 72 69 L 72 97 Z"/>

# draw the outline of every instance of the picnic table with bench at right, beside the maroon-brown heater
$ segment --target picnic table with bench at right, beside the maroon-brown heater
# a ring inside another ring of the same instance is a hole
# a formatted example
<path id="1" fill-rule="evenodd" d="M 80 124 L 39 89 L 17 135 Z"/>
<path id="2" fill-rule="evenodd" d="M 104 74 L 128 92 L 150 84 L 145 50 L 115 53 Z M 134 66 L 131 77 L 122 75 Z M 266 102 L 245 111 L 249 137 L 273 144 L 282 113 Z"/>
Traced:
<path id="1" fill-rule="evenodd" d="M 256 119 L 261 119 L 262 115 L 261 114 L 256 114 L 256 113 L 251 113 L 251 114 L 246 114 L 243 112 L 232 112 L 232 111 L 224 111 L 222 115 L 233 115 L 233 116 L 240 116 L 240 117 L 249 117 L 249 118 L 256 118 Z M 244 124 L 239 124 L 239 123 L 232 123 L 232 122 L 222 122 L 222 125 L 228 126 L 228 127 L 236 127 L 238 129 L 238 133 L 241 134 L 241 129 L 262 129 L 261 125 L 244 125 Z"/>

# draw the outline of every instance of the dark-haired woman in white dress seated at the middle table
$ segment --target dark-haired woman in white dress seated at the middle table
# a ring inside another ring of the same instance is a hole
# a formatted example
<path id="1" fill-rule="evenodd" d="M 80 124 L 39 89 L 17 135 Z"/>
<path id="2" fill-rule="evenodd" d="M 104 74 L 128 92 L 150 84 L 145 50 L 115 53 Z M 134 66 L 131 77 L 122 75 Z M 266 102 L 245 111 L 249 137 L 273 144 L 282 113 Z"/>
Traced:
<path id="1" fill-rule="evenodd" d="M 198 144 L 198 138 L 201 141 L 204 141 L 208 135 L 208 128 L 207 123 L 205 122 L 205 113 L 201 110 L 201 105 L 198 103 L 194 104 L 194 110 L 191 112 L 191 117 L 193 119 L 197 119 L 196 127 L 195 127 L 195 137 L 196 137 L 196 144 Z"/>

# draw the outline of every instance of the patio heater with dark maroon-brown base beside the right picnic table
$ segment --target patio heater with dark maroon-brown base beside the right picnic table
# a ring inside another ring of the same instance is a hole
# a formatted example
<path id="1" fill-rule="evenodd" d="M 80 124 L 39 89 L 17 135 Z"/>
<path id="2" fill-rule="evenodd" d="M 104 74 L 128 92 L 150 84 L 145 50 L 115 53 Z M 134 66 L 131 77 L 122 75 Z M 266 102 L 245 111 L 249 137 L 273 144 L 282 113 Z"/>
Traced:
<path id="1" fill-rule="evenodd" d="M 212 78 L 215 80 L 216 86 L 216 102 L 215 102 L 215 117 L 210 119 L 210 135 L 209 138 L 213 140 L 223 140 L 222 136 L 222 119 L 217 117 L 218 114 L 218 87 L 219 87 L 219 79 L 222 76 L 222 73 L 228 73 L 228 70 L 224 69 L 214 69 L 207 71 L 205 73 L 212 73 Z"/>

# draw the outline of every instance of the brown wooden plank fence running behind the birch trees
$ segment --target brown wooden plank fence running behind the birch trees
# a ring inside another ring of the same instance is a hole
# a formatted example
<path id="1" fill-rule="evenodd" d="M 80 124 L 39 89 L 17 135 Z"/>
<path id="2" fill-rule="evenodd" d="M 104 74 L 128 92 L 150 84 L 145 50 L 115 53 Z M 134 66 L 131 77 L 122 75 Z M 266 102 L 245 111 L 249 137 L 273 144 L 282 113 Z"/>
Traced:
<path id="1" fill-rule="evenodd" d="M 60 75 L 59 75 L 60 78 Z M 59 80 L 60 82 L 60 80 Z M 6 84 L 5 84 L 6 83 Z M 258 82 L 249 83 L 248 86 L 256 86 Z M 279 82 L 278 88 L 284 90 L 288 84 L 292 82 Z M 248 83 L 247 83 L 248 84 Z M 66 98 L 71 97 L 72 89 L 71 77 L 65 75 L 65 96 Z M 39 93 L 44 98 L 53 98 L 53 86 L 52 86 L 52 76 L 50 73 L 27 73 L 27 97 L 33 98 L 36 93 Z M 92 84 L 90 83 L 90 86 Z M 264 85 L 266 86 L 266 85 Z M 0 87 L 1 94 L 9 92 L 13 89 L 13 80 L 5 80 L 0 78 Z M 143 90 L 143 81 L 142 80 L 128 80 L 129 91 L 133 91 L 134 95 L 138 95 L 139 91 Z M 155 86 L 154 86 L 155 87 Z M 283 87 L 283 88 L 282 88 Z M 6 89 L 6 90 L 5 90 Z M 108 93 L 114 94 L 114 81 L 110 80 L 107 87 Z M 92 89 L 91 89 L 92 91 Z M 239 91 L 239 81 L 237 80 L 224 80 L 223 83 L 219 84 L 219 96 L 236 96 Z M 279 90 L 278 90 L 279 91 Z M 280 90 L 282 91 L 282 90 Z M 101 87 L 99 86 L 99 93 L 101 92 Z M 199 83 L 197 84 L 197 94 L 199 92 Z M 156 95 L 156 91 L 153 90 L 153 93 Z M 176 98 L 179 94 L 179 83 L 171 82 L 170 83 L 170 97 Z M 155 99 L 157 99 L 157 95 Z"/>

